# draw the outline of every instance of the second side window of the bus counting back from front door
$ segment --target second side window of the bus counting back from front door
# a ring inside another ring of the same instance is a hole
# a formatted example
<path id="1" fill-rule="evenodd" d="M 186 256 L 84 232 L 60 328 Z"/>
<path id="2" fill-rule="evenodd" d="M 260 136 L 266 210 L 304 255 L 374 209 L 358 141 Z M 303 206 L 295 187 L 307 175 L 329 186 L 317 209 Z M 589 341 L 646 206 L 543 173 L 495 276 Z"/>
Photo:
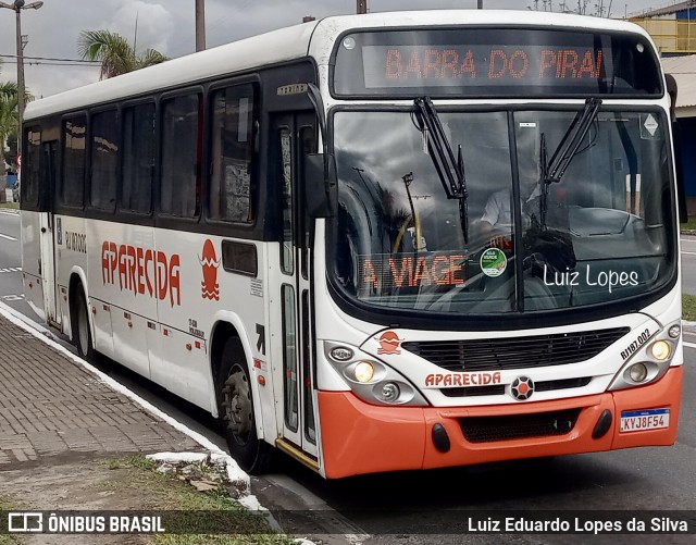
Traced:
<path id="1" fill-rule="evenodd" d="M 200 205 L 197 191 L 200 96 L 176 97 L 163 104 L 160 209 L 164 214 L 195 218 Z"/>

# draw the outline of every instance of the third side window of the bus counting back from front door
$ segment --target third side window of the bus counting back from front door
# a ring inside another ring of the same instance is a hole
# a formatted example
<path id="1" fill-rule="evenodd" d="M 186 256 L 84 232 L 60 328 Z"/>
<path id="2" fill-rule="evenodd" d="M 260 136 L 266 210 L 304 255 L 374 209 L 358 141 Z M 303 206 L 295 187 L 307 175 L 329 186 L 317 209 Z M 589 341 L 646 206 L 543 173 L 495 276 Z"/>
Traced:
<path id="1" fill-rule="evenodd" d="M 152 208 L 154 104 L 123 110 L 123 189 L 121 209 L 141 214 Z"/>

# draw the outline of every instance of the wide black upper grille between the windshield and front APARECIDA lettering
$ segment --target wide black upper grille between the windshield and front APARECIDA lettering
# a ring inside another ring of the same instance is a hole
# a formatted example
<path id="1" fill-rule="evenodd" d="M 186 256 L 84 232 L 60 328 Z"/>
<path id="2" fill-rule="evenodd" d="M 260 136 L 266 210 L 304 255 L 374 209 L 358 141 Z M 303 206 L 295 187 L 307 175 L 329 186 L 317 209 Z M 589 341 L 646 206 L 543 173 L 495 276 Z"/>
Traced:
<path id="1" fill-rule="evenodd" d="M 448 371 L 502 371 L 585 361 L 630 331 L 613 327 L 530 337 L 408 342 L 401 348 Z"/>

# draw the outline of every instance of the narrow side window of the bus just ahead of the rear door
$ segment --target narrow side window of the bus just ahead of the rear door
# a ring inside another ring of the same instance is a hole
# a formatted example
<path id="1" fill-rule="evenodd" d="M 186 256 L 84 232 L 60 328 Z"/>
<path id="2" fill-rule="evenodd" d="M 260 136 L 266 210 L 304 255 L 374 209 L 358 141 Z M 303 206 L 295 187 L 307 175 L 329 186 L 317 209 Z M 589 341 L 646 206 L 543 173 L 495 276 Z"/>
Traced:
<path id="1" fill-rule="evenodd" d="M 84 115 L 63 123 L 61 200 L 69 207 L 82 208 L 85 198 L 85 126 Z"/>

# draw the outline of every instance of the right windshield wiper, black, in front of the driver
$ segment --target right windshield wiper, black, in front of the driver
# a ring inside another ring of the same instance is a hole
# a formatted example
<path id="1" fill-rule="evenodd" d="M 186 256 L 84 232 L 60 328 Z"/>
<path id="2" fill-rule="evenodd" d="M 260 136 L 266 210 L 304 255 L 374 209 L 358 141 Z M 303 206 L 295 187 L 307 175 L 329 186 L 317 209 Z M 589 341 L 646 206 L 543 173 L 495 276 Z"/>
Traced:
<path id="1" fill-rule="evenodd" d="M 582 112 L 577 112 L 569 125 L 558 148 L 554 151 L 550 161 L 547 161 L 546 135 L 542 133 L 539 161 L 542 163 L 542 179 L 544 182 L 540 198 L 540 220 L 543 228 L 546 228 L 548 186 L 550 184 L 558 184 L 563 177 L 563 174 L 566 174 L 568 166 L 577 153 L 577 148 L 580 148 L 580 145 L 587 135 L 587 131 L 589 131 L 589 127 L 597 117 L 600 106 L 601 99 L 598 98 L 593 97 L 585 101 L 585 108 Z"/>

